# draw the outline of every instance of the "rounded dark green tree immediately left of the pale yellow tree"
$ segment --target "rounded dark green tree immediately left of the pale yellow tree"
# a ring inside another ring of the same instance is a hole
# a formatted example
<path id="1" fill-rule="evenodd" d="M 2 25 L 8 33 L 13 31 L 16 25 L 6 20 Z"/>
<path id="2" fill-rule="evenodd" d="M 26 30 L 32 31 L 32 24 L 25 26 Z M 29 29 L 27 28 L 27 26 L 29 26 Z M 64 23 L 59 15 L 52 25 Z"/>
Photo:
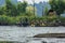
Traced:
<path id="1" fill-rule="evenodd" d="M 27 6 L 27 2 L 18 2 L 17 4 L 17 12 L 20 15 L 25 14 L 26 13 L 26 6 Z"/>

